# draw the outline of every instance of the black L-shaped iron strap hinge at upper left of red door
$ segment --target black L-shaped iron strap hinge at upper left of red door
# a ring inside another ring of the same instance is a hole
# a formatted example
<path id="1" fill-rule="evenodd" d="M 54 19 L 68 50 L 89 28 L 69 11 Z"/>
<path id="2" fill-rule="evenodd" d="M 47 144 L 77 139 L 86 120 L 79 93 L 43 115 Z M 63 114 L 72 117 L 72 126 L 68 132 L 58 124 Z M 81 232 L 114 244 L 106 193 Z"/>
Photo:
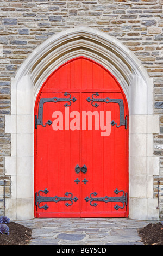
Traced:
<path id="1" fill-rule="evenodd" d="M 73 97 L 71 99 L 71 94 L 70 93 L 64 93 L 65 96 L 70 96 L 70 97 L 65 97 L 65 98 L 58 98 L 58 97 L 53 97 L 53 98 L 41 98 L 39 102 L 39 111 L 38 111 L 38 117 L 35 115 L 35 128 L 37 129 L 37 125 L 42 125 L 43 127 L 46 127 L 46 125 L 51 125 L 52 121 L 48 120 L 45 125 L 43 125 L 43 104 L 46 102 L 61 102 L 61 101 L 68 101 L 64 106 L 65 107 L 70 107 L 72 102 L 75 102 L 77 99 Z"/>

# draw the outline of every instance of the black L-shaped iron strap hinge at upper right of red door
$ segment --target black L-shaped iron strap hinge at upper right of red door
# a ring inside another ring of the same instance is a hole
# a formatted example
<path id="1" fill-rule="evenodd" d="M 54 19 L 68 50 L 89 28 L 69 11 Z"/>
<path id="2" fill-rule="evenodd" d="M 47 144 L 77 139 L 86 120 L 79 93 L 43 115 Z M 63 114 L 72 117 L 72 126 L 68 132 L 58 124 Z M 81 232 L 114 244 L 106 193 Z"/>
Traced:
<path id="1" fill-rule="evenodd" d="M 96 96 L 93 97 L 93 96 Z M 111 121 L 111 125 L 114 126 L 116 125 L 117 128 L 119 128 L 120 126 L 124 125 L 125 129 L 127 129 L 127 116 L 126 118 L 124 118 L 124 104 L 123 104 L 123 100 L 122 99 L 110 99 L 109 97 L 106 98 L 97 98 L 97 96 L 99 96 L 99 93 L 93 93 L 92 94 L 92 99 L 90 97 L 87 97 L 87 102 L 91 102 L 93 107 L 98 107 L 99 105 L 97 103 L 93 104 L 93 102 L 105 102 L 105 103 L 117 103 L 120 107 L 120 124 L 117 125 L 117 123 L 113 120 Z"/>

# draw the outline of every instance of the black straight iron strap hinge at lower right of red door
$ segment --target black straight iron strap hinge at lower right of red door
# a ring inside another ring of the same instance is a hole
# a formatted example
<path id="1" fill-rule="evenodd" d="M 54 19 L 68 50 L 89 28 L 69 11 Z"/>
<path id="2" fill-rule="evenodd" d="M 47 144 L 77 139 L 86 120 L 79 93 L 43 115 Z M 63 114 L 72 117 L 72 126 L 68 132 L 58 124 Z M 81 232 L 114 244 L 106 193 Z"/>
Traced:
<path id="1" fill-rule="evenodd" d="M 121 202 L 123 204 L 123 206 L 119 206 L 117 204 L 114 206 L 114 208 L 116 210 L 118 210 L 119 208 L 123 209 L 125 205 L 127 206 L 127 193 L 124 193 L 123 190 L 118 190 L 117 188 L 114 191 L 115 194 L 118 194 L 120 192 L 123 192 L 123 195 L 121 197 L 108 197 L 108 196 L 105 196 L 105 197 L 92 197 L 92 194 L 93 194 L 93 196 L 97 196 L 97 193 L 93 192 L 93 193 L 90 194 L 90 198 L 86 197 L 84 199 L 86 200 L 86 202 L 90 201 L 90 205 L 91 206 L 95 206 L 95 207 L 98 205 L 97 203 L 92 203 L 92 202 L 95 202 L 95 201 L 102 201 L 102 202 L 105 202 L 105 203 L 108 203 L 108 202 Z"/>

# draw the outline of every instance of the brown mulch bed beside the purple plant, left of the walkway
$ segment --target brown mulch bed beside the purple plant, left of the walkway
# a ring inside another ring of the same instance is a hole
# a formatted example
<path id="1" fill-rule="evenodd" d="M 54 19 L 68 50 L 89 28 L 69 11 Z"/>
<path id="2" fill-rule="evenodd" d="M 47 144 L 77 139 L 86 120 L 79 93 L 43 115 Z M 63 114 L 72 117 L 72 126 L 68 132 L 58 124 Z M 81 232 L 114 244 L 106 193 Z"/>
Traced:
<path id="1" fill-rule="evenodd" d="M 0 234 L 0 245 L 28 245 L 32 235 L 32 229 L 15 222 L 7 224 L 9 235 Z"/>

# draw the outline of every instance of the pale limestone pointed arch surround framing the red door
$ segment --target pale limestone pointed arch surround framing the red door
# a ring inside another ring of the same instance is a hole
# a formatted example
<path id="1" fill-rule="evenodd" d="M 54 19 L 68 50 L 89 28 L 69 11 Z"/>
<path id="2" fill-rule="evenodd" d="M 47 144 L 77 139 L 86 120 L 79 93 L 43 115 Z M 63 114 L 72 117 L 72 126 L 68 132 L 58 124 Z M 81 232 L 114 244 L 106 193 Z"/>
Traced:
<path id="1" fill-rule="evenodd" d="M 116 77 L 129 106 L 129 218 L 159 218 L 153 198 L 153 133 L 159 133 L 153 115 L 153 80 L 126 46 L 104 32 L 74 27 L 54 34 L 40 44 L 20 66 L 11 84 L 11 115 L 5 116 L 5 133 L 11 133 L 11 156 L 5 157 L 5 174 L 11 176 L 7 216 L 34 217 L 34 106 L 46 78 L 74 57 L 95 60 Z"/>

